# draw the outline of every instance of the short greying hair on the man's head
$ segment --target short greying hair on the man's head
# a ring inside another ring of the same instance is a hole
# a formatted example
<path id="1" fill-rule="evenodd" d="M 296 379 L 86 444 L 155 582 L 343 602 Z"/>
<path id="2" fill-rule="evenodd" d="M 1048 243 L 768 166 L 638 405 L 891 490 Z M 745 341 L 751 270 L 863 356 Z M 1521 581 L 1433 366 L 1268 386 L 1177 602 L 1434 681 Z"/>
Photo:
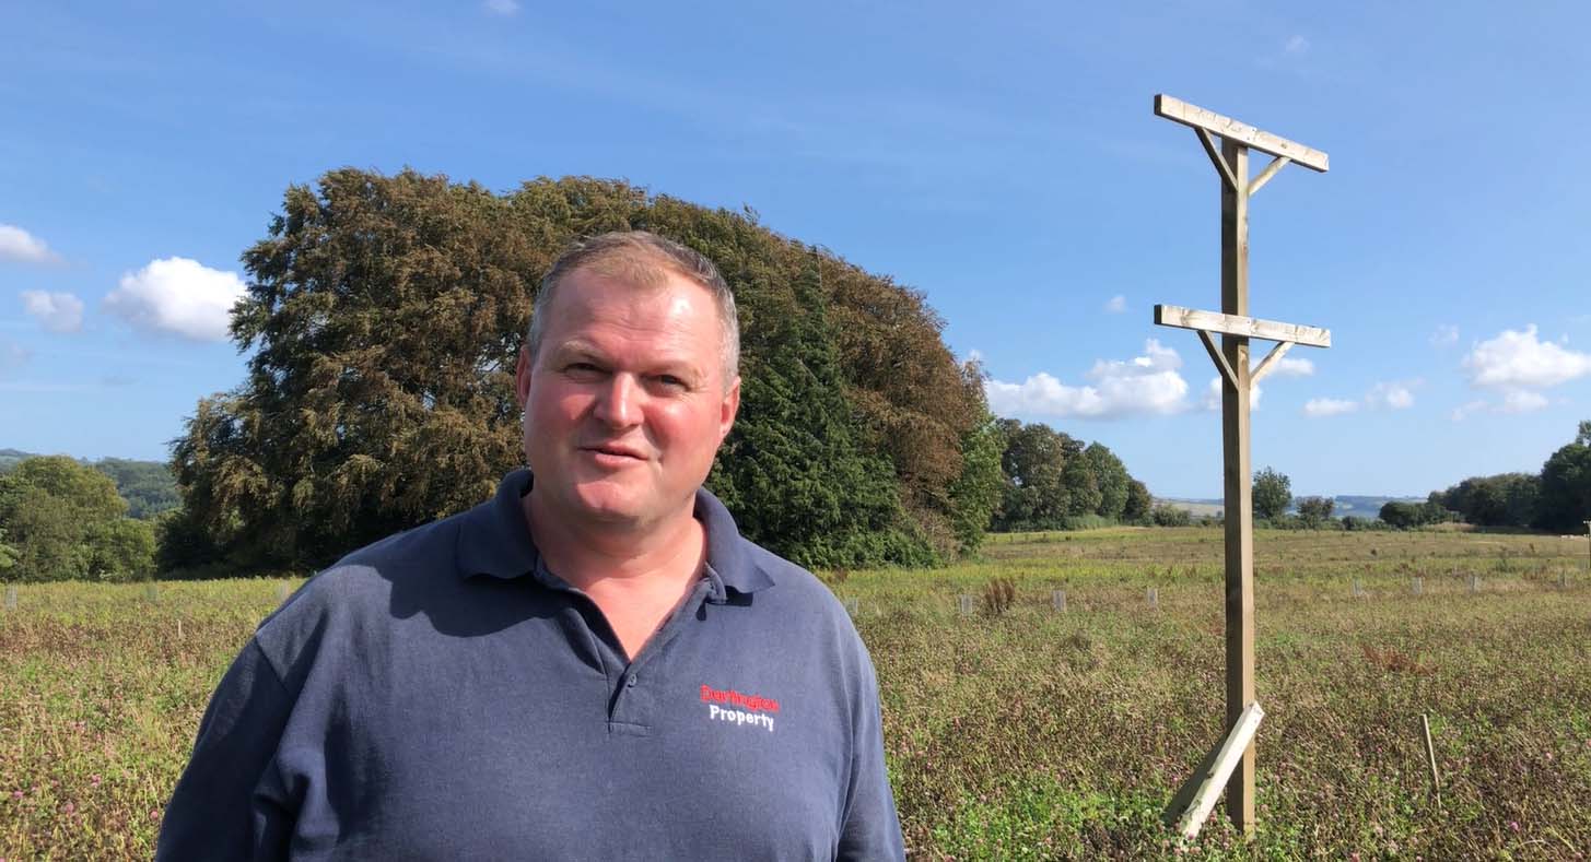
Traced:
<path id="1" fill-rule="evenodd" d="M 570 245 L 552 262 L 552 269 L 541 278 L 541 289 L 536 291 L 536 302 L 530 312 L 530 331 L 525 332 L 525 347 L 531 359 L 541 351 L 547 312 L 552 309 L 558 285 L 579 270 L 641 288 L 659 286 L 668 275 L 683 275 L 706 288 L 718 307 L 724 385 L 729 386 L 740 374 L 740 316 L 735 313 L 735 294 L 705 254 L 649 231 L 613 231 L 587 237 Z"/>

